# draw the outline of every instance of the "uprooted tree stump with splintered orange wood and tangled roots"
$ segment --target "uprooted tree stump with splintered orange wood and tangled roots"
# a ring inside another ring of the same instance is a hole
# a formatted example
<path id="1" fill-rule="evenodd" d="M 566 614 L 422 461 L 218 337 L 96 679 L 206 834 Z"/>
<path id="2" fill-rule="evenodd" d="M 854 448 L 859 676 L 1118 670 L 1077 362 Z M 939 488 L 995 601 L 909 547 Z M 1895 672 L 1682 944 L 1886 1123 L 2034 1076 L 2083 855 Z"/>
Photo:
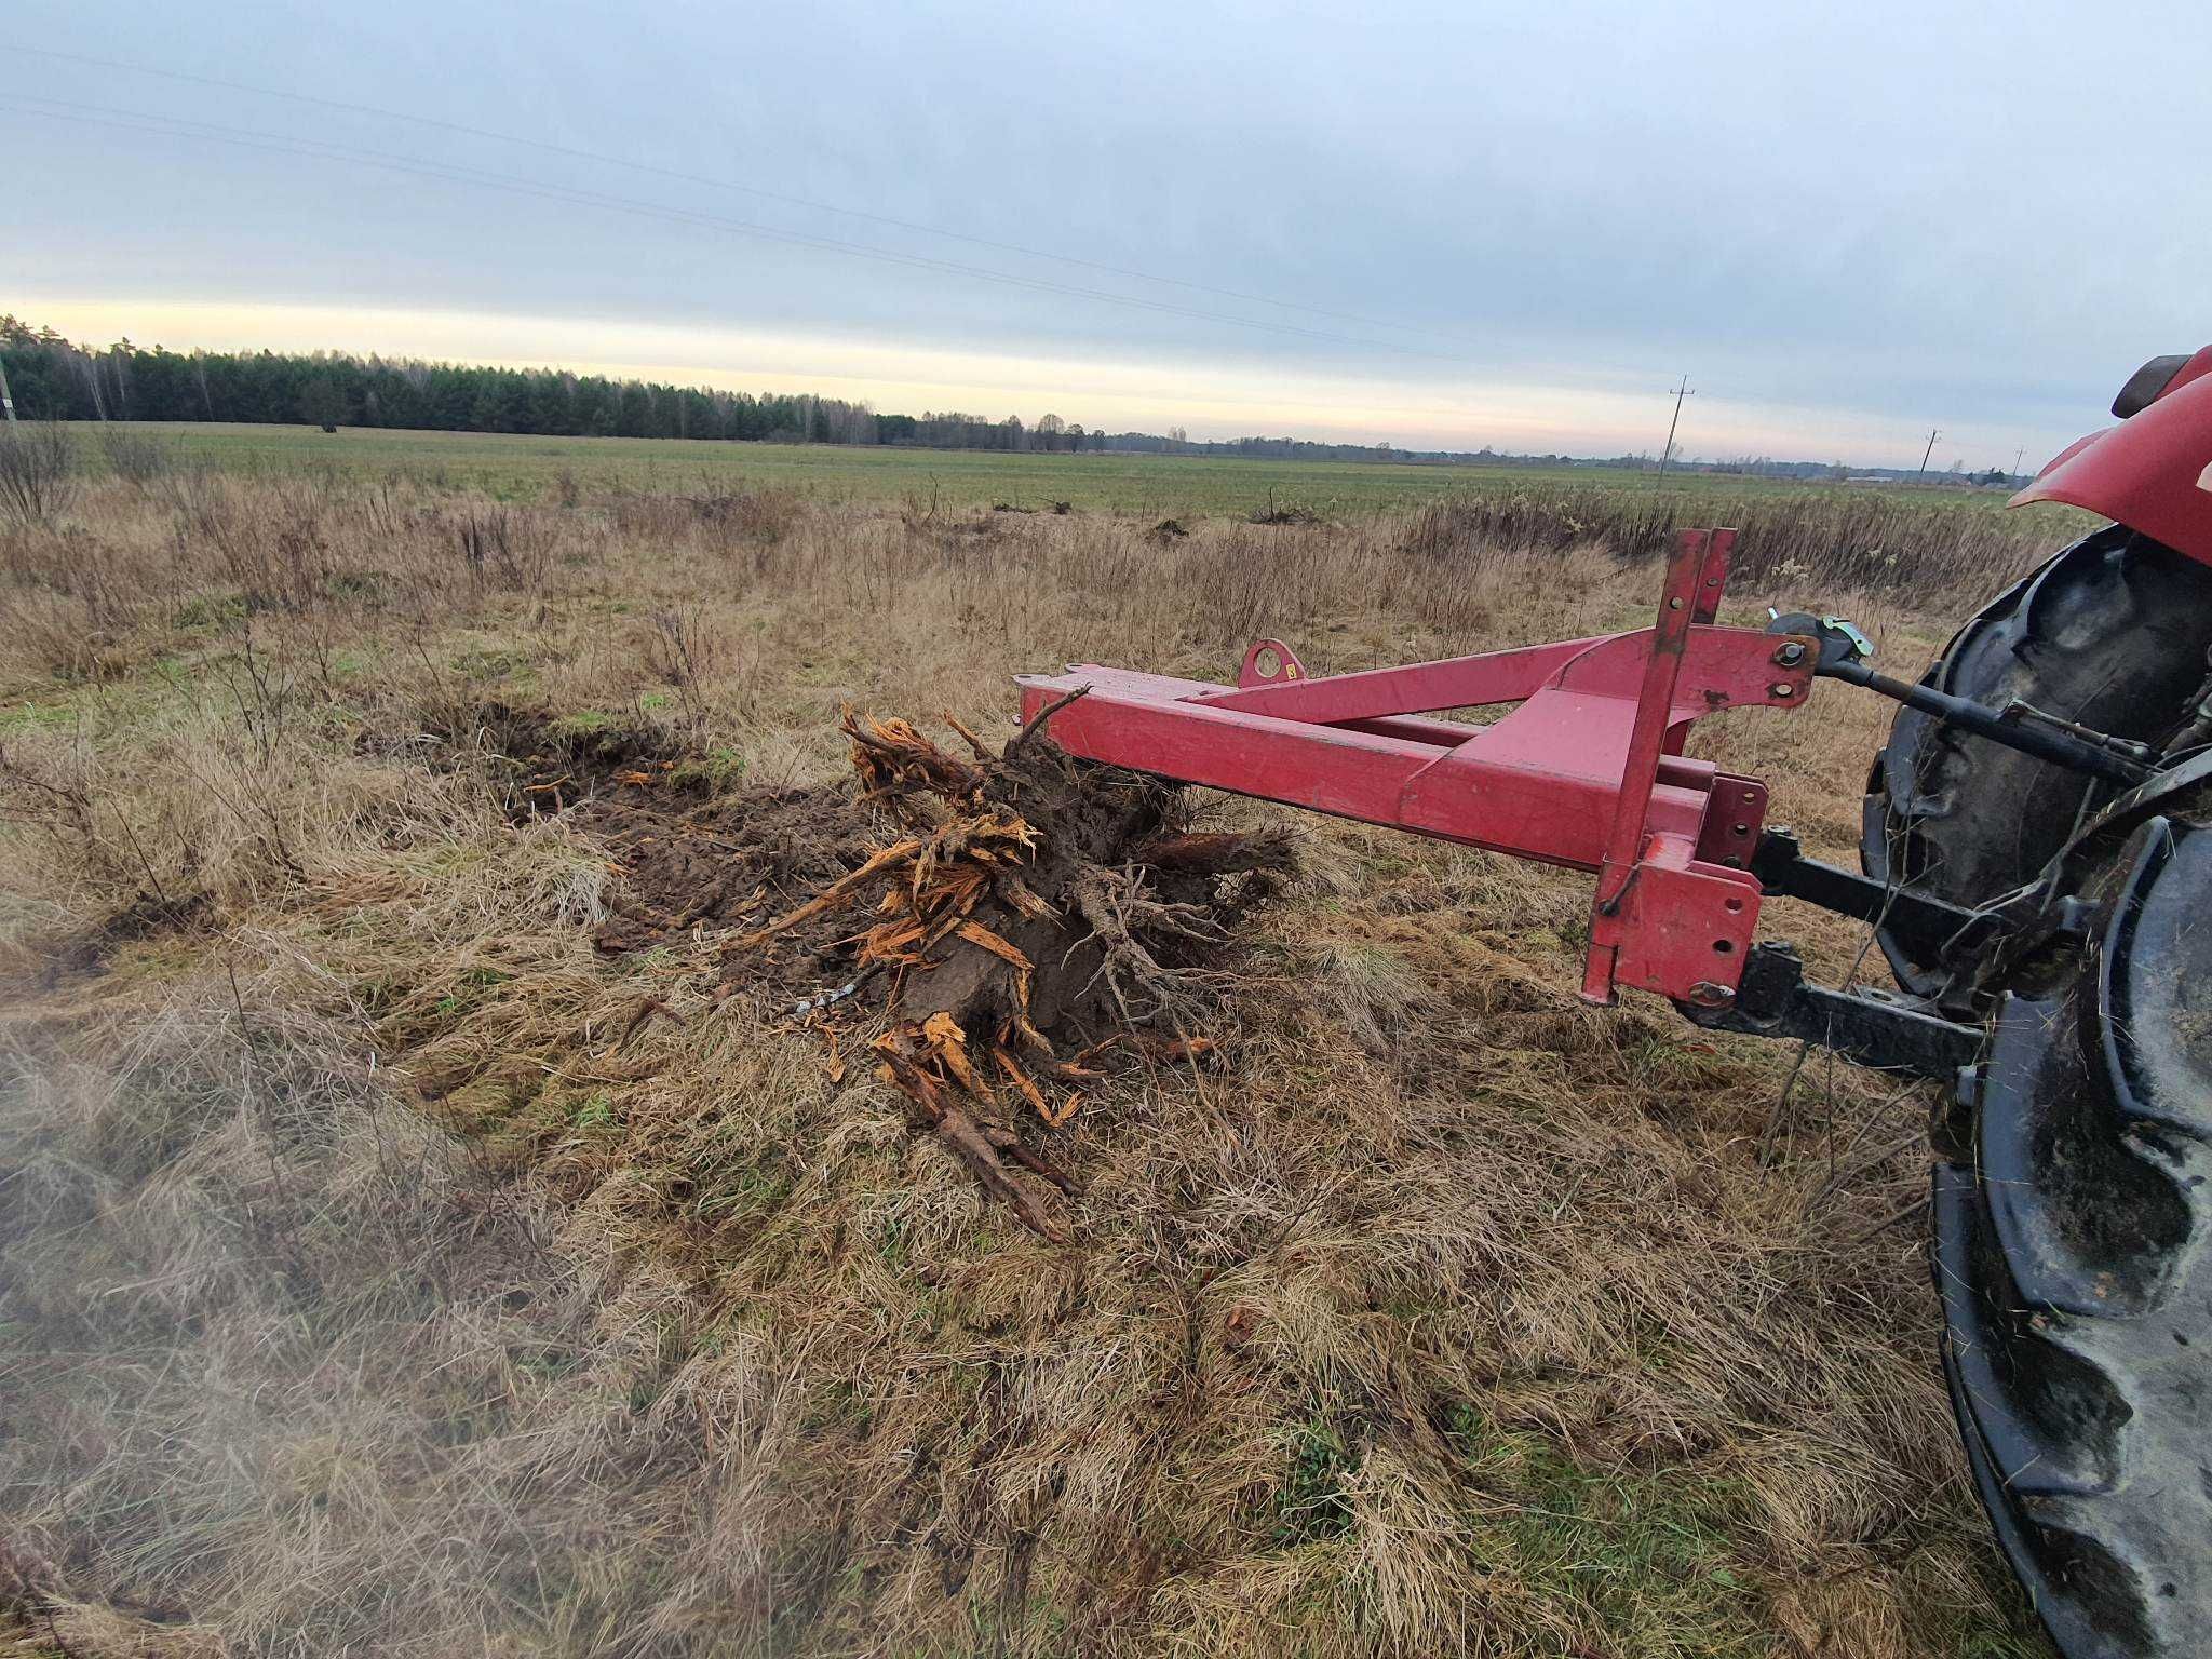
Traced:
<path id="1" fill-rule="evenodd" d="M 728 949 L 872 900 L 854 982 L 810 1011 L 885 987 L 878 1075 L 987 1192 L 1064 1241 L 1029 1177 L 1073 1186 L 1022 1144 L 1022 1117 L 1066 1124 L 1115 1051 L 1201 1053 L 1192 1029 L 1225 984 L 1232 929 L 1292 852 L 1279 834 L 1192 832 L 1179 790 L 1066 757 L 1048 717 L 998 754 L 947 717 L 958 757 L 907 721 L 847 712 L 863 799 L 898 838 Z"/>

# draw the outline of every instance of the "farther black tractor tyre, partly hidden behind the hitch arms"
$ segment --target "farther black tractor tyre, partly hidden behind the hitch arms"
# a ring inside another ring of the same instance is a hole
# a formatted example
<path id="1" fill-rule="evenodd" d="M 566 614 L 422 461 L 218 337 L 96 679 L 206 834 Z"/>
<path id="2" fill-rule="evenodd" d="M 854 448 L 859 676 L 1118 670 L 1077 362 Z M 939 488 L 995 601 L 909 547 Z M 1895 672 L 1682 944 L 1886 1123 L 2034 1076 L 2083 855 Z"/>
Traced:
<path id="1" fill-rule="evenodd" d="M 1982 608 L 1922 684 L 1984 708 L 2013 699 L 2099 732 L 2159 743 L 2205 679 L 2212 568 L 2112 524 Z M 1867 781 L 1867 874 L 1953 905 L 1986 905 L 2051 863 L 2112 794 L 2081 772 L 1898 710 Z M 1898 984 L 1953 1013 L 1964 973 L 1882 931 Z"/>

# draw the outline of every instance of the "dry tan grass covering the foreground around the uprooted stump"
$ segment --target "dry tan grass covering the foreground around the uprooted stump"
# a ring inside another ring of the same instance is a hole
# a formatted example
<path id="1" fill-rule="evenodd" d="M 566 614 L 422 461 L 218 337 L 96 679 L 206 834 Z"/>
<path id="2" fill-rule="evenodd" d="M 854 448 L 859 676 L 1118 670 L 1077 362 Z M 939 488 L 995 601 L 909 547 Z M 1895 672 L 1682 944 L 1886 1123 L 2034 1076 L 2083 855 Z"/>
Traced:
<path id="1" fill-rule="evenodd" d="M 1730 615 L 1940 644 L 1798 582 Z M 1228 1071 L 1057 1130 L 1055 1250 L 865 1068 L 717 1004 L 710 940 L 597 956 L 602 849 L 504 812 L 502 708 L 816 781 L 845 701 L 1002 734 L 1018 668 L 1221 677 L 1254 633 L 1356 668 L 1652 586 L 1438 522 L 221 476 L 0 531 L 0 1617 L 71 1652 L 2035 1652 L 1918 1245 L 1871 1230 L 1916 1157 L 1829 1161 L 1918 1097 L 1816 1066 L 1761 1168 L 1790 1055 L 1584 1011 L 1579 878 L 1296 823 Z M 1829 688 L 1712 745 L 1836 852 L 1880 728 Z M 648 995 L 675 1020 L 624 1044 Z"/>

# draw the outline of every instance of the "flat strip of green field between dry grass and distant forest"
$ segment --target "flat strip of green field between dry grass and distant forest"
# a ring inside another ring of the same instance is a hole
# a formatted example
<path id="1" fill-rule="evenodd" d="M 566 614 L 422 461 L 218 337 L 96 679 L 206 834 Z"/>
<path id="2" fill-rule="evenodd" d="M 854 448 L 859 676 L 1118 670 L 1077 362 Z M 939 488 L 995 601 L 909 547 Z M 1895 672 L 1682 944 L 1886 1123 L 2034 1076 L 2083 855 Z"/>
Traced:
<path id="1" fill-rule="evenodd" d="M 131 431 L 175 442 L 188 458 L 226 471 L 336 471 L 365 478 L 405 473 L 500 498 L 580 489 L 796 489 L 823 500 L 927 502 L 947 507 L 1051 507 L 1144 518 L 1245 518 L 1305 509 L 1325 518 L 1420 507 L 1509 489 L 1646 491 L 1661 498 L 1776 500 L 1865 493 L 1863 487 L 1792 484 L 1710 473 L 1646 473 L 1595 467 L 1413 467 L 1387 462 L 1239 460 L 1217 456 L 1022 456 L 975 449 L 869 449 L 843 445 L 708 442 L 686 438 L 522 438 L 473 431 L 347 427 L 239 427 L 144 422 Z M 1891 493 L 1891 491 L 1880 491 Z M 1993 509 L 1995 491 L 1918 489 L 1918 502 Z"/>

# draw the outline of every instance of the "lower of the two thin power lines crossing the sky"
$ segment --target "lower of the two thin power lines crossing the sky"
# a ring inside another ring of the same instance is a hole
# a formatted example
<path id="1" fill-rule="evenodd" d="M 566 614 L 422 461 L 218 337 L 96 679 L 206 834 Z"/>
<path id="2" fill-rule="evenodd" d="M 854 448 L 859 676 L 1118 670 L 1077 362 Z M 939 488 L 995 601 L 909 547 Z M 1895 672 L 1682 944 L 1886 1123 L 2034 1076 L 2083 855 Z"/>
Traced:
<path id="1" fill-rule="evenodd" d="M 878 263 L 889 263 L 889 265 L 907 265 L 911 270 L 933 270 L 956 276 L 971 276 L 975 281 L 1004 283 L 1009 288 L 1026 288 L 1042 294 L 1088 299 L 1102 305 L 1124 305 L 1141 312 L 1159 312 L 1164 316 L 1186 316 L 1203 323 L 1228 323 L 1230 327 L 1261 330 L 1265 334 L 1287 334 L 1307 341 L 1327 341 L 1334 345 L 1356 345 L 1376 352 L 1398 352 L 1402 356 L 1422 356 L 1438 363 L 1467 363 L 1467 358 L 1449 356 L 1444 352 L 1429 352 L 1418 345 L 1398 345 L 1394 341 L 1367 341 L 1354 334 L 1334 334 L 1327 330 L 1301 327 L 1296 323 L 1270 323 L 1254 316 L 1232 316 L 1230 312 L 1206 312 L 1192 305 L 1175 305 L 1157 299 L 1139 299 L 1135 294 L 1115 294 L 1104 288 L 1082 288 L 1077 283 L 1060 283 L 1048 276 L 1018 276 L 1013 272 L 989 270 L 984 265 L 964 265 L 960 261 L 933 259 L 929 254 L 905 254 L 889 248 L 872 248 L 867 243 L 843 241 L 838 237 L 816 237 L 810 232 L 781 230 L 776 226 L 763 226 L 748 219 L 726 219 L 721 215 L 697 212 L 692 208 L 672 208 L 666 204 L 639 201 L 635 197 L 615 197 L 615 195 L 604 195 L 599 190 L 577 190 L 564 184 L 522 179 L 511 173 L 493 173 L 491 168 L 478 168 L 465 161 L 429 161 L 411 155 L 394 155 L 392 150 L 372 150 L 356 144 L 301 139 L 285 133 L 261 133 L 257 128 L 226 126 L 221 122 L 197 122 L 181 115 L 153 115 L 146 111 L 115 108 L 108 104 L 77 104 L 71 100 L 29 97 L 22 93 L 0 97 L 0 108 L 13 108 L 27 115 L 40 115 L 42 119 L 106 126 L 124 133 L 146 133 L 153 137 L 170 137 L 170 139 L 186 137 L 208 144 L 230 144 L 234 148 L 268 150 L 272 155 L 292 155 L 314 161 L 347 161 L 354 166 L 378 168 L 385 173 L 407 173 L 427 179 L 445 179 L 449 184 L 473 184 L 487 190 L 504 190 L 509 195 L 538 197 L 544 201 L 604 208 L 608 212 L 626 212 L 644 219 L 664 219 L 670 223 L 688 223 L 741 237 L 759 237 L 765 241 L 781 241 L 796 248 L 816 248 L 856 259 L 874 259 Z"/>

